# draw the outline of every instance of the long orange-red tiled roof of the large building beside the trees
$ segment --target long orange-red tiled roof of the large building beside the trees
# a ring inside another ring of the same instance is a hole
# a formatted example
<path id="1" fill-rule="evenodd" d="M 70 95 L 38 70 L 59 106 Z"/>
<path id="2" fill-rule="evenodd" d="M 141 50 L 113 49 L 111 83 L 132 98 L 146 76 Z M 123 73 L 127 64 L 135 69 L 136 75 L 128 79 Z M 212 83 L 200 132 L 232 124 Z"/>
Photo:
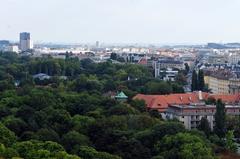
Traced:
<path id="1" fill-rule="evenodd" d="M 164 112 L 169 105 L 189 105 L 191 103 L 200 103 L 203 100 L 213 97 L 222 99 L 225 103 L 236 103 L 239 101 L 239 95 L 211 95 L 205 92 L 192 92 L 170 95 L 144 95 L 138 94 L 133 99 L 144 100 L 149 109 L 157 109 Z"/>

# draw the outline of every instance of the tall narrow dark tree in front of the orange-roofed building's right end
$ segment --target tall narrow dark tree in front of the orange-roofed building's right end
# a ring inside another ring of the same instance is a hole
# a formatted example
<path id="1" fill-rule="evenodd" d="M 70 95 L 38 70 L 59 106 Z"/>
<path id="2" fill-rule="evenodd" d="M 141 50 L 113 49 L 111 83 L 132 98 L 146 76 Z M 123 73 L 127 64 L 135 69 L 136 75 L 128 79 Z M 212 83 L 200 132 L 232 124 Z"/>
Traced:
<path id="1" fill-rule="evenodd" d="M 225 104 L 222 102 L 221 99 L 218 99 L 216 104 L 214 132 L 221 138 L 223 138 L 226 133 L 225 120 L 226 120 Z"/>

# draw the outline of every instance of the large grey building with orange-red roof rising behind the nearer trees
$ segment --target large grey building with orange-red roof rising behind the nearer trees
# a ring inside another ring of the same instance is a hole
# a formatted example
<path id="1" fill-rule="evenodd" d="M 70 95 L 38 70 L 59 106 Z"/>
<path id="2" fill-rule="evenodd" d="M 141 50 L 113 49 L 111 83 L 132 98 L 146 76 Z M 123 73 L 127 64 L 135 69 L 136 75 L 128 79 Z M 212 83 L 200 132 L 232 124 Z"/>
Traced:
<path id="1" fill-rule="evenodd" d="M 206 105 L 205 100 L 221 99 L 225 104 L 227 115 L 240 115 L 240 96 L 214 95 L 204 92 L 192 92 L 170 95 L 138 94 L 133 99 L 144 100 L 147 109 L 157 110 L 163 119 L 177 118 L 187 129 L 196 128 L 202 117 L 206 117 L 211 128 L 214 127 L 215 105 Z"/>

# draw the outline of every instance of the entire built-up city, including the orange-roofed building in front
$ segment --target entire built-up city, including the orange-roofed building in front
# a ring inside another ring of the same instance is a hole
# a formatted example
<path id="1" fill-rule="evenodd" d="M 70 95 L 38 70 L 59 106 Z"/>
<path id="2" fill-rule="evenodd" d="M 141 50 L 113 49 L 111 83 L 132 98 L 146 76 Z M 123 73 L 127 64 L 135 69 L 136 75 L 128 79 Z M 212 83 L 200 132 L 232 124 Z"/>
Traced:
<path id="1" fill-rule="evenodd" d="M 33 45 L 31 34 L 22 32 L 19 34 L 18 43 L 0 40 L 0 51 L 16 52 L 19 56 L 32 58 L 66 59 L 72 57 L 79 60 L 91 59 L 95 63 L 103 63 L 109 60 L 120 65 L 131 63 L 152 69 L 153 76 L 156 79 L 170 82 L 182 80 L 186 94 L 176 94 L 169 97 L 166 95 L 137 95 L 134 98 L 145 100 L 147 107 L 157 109 L 164 119 L 174 117 L 179 119 L 187 129 L 196 128 L 201 117 L 206 115 L 211 129 L 213 129 L 216 107 L 205 107 L 203 104 L 203 101 L 209 97 L 216 100 L 220 98 L 226 104 L 229 104 L 226 107 L 228 114 L 240 114 L 240 107 L 236 104 L 239 102 L 238 94 L 240 93 L 240 43 L 161 47 L 154 45 L 103 46 L 100 41 L 96 41 L 93 45 Z M 194 89 L 193 72 L 199 71 L 204 74 L 203 85 L 205 87 Z M 49 75 L 42 73 L 33 77 L 40 80 L 51 78 Z M 194 92 L 196 90 L 200 90 L 200 92 Z M 202 94 L 202 91 L 210 94 Z M 159 100 L 161 98 L 164 99 Z M 148 101 L 156 101 L 160 105 L 152 105 L 153 103 L 148 103 Z M 166 101 L 166 103 L 162 103 L 162 101 Z M 200 111 L 196 113 L 195 109 Z M 188 111 L 188 113 L 181 113 L 184 111 Z M 189 113 L 192 113 L 192 117 L 194 116 L 194 122 Z"/>

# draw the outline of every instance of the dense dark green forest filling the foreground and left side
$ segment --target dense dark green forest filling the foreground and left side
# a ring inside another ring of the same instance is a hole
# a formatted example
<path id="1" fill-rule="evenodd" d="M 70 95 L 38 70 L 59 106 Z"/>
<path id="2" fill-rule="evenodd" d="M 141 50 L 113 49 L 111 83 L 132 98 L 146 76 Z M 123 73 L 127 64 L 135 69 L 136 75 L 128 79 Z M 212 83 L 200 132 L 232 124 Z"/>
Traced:
<path id="1" fill-rule="evenodd" d="M 33 79 L 38 73 L 52 78 Z M 118 102 L 109 91 L 129 99 Z M 214 159 L 216 147 L 234 152 L 231 141 L 240 129 L 227 124 L 230 119 L 216 129 L 224 136 L 207 130 L 206 120 L 189 131 L 132 100 L 137 93 L 179 92 L 181 84 L 154 79 L 140 65 L 0 53 L 0 158 Z M 224 114 L 224 104 L 217 104 Z"/>

